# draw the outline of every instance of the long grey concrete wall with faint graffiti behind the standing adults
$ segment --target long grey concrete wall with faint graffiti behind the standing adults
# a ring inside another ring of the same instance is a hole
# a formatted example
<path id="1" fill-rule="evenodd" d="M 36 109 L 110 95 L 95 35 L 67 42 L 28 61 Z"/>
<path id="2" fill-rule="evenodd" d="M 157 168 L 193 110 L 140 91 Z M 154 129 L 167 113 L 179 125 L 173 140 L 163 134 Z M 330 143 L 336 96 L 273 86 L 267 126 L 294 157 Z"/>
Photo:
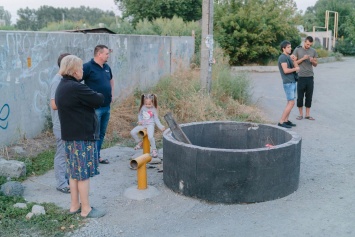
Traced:
<path id="1" fill-rule="evenodd" d="M 118 98 L 155 85 L 178 64 L 188 67 L 194 52 L 193 37 L 0 31 L 0 147 L 44 129 L 58 56 L 86 62 L 97 44 L 113 50 L 108 63 Z"/>

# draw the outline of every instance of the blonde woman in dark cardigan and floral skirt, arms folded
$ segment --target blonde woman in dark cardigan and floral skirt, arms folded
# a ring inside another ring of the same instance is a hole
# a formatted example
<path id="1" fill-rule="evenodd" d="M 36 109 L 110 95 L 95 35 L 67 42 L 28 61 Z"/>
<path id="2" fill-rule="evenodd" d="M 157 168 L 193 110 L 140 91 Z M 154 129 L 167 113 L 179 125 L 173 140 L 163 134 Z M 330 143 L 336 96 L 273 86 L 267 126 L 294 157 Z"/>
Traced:
<path id="1" fill-rule="evenodd" d="M 80 83 L 83 61 L 75 55 L 63 58 L 55 101 L 64 141 L 69 176 L 71 204 L 69 213 L 82 217 L 99 218 L 105 212 L 90 206 L 90 177 L 100 174 L 96 140 L 99 139 L 95 108 L 104 96 Z"/>

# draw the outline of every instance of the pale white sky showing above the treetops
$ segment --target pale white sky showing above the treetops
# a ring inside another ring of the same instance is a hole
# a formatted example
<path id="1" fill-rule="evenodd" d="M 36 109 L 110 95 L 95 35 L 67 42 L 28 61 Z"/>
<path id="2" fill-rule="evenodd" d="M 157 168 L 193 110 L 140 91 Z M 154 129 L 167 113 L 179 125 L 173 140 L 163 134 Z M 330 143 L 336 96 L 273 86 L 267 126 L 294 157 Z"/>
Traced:
<path id="1" fill-rule="evenodd" d="M 306 11 L 307 7 L 314 6 L 317 0 L 294 0 L 299 10 Z M 29 2 L 31 2 L 29 4 Z M 118 7 L 113 0 L 0 0 L 0 6 L 9 11 L 12 16 L 12 23 L 16 23 L 17 10 L 29 7 L 30 9 L 38 9 L 40 6 L 47 5 L 53 7 L 80 7 L 86 6 L 90 8 L 99 8 L 104 11 L 113 11 L 116 15 L 120 15 Z"/>

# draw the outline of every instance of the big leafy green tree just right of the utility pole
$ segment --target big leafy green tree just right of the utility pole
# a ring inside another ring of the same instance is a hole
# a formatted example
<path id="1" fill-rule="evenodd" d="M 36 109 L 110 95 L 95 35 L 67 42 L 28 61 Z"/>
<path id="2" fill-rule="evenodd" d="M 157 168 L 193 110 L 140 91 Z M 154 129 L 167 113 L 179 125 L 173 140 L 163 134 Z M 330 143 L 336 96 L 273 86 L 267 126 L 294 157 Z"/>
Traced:
<path id="1" fill-rule="evenodd" d="M 279 44 L 301 39 L 293 20 L 293 0 L 225 0 L 215 5 L 215 39 L 230 64 L 266 64 L 280 54 Z"/>

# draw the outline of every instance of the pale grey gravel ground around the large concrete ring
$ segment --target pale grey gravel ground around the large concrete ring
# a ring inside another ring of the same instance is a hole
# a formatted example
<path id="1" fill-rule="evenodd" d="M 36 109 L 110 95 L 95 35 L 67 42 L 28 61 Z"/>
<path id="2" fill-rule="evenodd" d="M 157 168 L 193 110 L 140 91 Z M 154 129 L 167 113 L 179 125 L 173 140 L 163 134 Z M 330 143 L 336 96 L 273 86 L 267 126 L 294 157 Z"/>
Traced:
<path id="1" fill-rule="evenodd" d="M 92 219 L 70 236 L 355 236 L 355 59 L 315 68 L 311 115 L 290 120 L 302 136 L 299 188 L 293 194 L 255 204 L 213 204 L 178 195 L 165 187 L 163 174 L 148 169 L 148 185 L 159 194 L 141 201 L 124 195 L 136 185 L 128 167 L 132 148 L 103 150 L 111 161 L 91 179 L 90 200 L 107 215 Z M 254 100 L 277 123 L 286 100 L 278 72 L 250 73 Z M 55 190 L 54 172 L 24 182 L 28 201 L 69 207 L 69 195 Z"/>

